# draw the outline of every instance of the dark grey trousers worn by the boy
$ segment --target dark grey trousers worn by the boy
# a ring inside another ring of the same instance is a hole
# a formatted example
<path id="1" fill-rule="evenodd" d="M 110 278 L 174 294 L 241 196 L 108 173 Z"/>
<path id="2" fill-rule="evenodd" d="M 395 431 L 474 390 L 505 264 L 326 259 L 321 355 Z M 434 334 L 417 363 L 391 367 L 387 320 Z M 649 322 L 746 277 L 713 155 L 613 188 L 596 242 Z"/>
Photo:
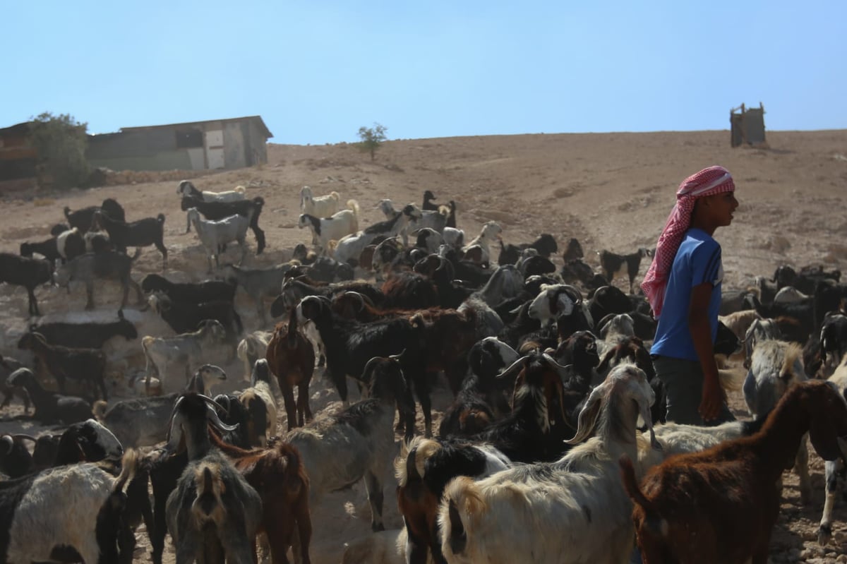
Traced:
<path id="1" fill-rule="evenodd" d="M 703 421 L 697 410 L 703 399 L 703 370 L 700 362 L 672 357 L 654 357 L 653 368 L 662 380 L 667 397 L 667 421 L 686 425 L 712 427 L 735 421 L 726 403 L 721 407 L 717 419 Z"/>

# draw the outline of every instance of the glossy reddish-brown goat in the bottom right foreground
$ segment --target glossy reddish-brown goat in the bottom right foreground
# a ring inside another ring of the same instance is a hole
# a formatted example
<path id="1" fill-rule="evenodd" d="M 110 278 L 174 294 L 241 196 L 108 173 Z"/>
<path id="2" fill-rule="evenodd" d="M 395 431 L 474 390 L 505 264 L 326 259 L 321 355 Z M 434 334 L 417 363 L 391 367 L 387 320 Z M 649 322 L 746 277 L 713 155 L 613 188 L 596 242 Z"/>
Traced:
<path id="1" fill-rule="evenodd" d="M 632 462 L 620 461 L 623 485 L 645 564 L 766 564 L 783 470 L 809 433 L 828 461 L 844 452 L 847 403 L 826 382 L 794 385 L 762 429 L 706 451 L 672 456 L 639 486 Z"/>

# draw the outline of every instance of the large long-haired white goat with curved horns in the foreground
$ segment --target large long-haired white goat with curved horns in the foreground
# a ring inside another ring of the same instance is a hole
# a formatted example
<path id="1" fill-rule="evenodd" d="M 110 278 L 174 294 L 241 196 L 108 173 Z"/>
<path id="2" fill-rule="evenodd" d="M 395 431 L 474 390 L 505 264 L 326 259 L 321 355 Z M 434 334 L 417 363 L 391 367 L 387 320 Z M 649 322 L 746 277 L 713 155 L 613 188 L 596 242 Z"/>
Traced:
<path id="1" fill-rule="evenodd" d="M 579 429 L 567 441 L 578 446 L 560 460 L 514 467 L 478 482 L 451 480 L 438 520 L 446 560 L 628 561 L 632 503 L 617 460 L 636 456 L 636 422 L 640 416 L 650 425 L 653 400 L 645 373 L 622 364 L 591 392 Z M 515 523 L 527 526 L 515 534 Z"/>

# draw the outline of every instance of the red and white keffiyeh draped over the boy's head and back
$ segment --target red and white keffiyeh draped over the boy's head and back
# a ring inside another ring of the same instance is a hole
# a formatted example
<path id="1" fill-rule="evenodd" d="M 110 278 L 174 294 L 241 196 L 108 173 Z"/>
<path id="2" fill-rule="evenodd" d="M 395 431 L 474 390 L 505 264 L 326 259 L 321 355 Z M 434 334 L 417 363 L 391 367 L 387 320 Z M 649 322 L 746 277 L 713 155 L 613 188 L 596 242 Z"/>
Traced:
<path id="1" fill-rule="evenodd" d="M 685 231 L 691 224 L 691 212 L 694 211 L 695 201 L 705 196 L 734 190 L 732 175 L 727 169 L 717 165 L 692 174 L 679 185 L 677 203 L 667 218 L 662 235 L 659 235 L 653 263 L 650 264 L 650 269 L 644 281 L 641 282 L 641 290 L 644 290 L 647 301 L 650 302 L 654 318 L 658 319 L 662 315 L 667 277 L 671 273 L 673 259 L 677 256 Z"/>

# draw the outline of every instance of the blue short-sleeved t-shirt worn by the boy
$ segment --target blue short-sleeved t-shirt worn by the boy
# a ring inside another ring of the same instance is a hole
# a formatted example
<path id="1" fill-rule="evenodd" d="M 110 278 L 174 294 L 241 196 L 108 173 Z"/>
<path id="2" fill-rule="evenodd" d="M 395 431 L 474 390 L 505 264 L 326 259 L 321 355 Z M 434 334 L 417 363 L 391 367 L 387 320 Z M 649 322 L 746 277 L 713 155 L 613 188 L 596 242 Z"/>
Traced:
<path id="1" fill-rule="evenodd" d="M 721 246 L 702 229 L 686 231 L 677 255 L 673 258 L 665 290 L 665 303 L 650 354 L 700 360 L 689 330 L 691 291 L 704 282 L 712 285 L 709 324 L 711 341 L 714 342 L 717 336 L 717 314 L 721 307 L 722 279 Z"/>

